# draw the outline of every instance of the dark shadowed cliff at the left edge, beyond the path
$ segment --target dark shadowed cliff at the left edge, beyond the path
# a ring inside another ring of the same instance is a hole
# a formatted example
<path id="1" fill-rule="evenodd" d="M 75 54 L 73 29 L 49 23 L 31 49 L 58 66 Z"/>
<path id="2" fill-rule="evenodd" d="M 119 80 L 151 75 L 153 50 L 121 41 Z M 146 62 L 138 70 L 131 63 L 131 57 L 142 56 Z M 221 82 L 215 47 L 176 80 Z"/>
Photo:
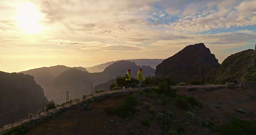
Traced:
<path id="1" fill-rule="evenodd" d="M 44 91 L 33 76 L 0 71 L 0 114 L 13 110 L 14 120 L 42 110 Z M 0 116 L 0 125 L 11 122 L 11 115 Z"/>

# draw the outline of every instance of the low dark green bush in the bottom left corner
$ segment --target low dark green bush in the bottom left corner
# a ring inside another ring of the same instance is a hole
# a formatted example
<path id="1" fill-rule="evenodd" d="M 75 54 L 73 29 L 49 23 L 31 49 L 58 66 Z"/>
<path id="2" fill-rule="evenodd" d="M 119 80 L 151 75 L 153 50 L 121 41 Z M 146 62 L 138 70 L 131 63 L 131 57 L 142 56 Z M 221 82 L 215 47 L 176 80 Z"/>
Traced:
<path id="1" fill-rule="evenodd" d="M 29 131 L 29 127 L 25 124 L 22 124 L 17 127 L 12 127 L 8 131 L 4 131 L 1 135 L 24 135 Z"/>

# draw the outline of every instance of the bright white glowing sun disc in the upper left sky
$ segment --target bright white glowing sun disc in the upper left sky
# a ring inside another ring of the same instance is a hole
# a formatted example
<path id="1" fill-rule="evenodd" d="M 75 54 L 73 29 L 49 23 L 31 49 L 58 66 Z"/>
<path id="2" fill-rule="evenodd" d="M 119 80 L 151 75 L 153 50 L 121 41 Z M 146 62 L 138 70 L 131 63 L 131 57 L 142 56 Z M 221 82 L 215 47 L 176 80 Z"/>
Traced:
<path id="1" fill-rule="evenodd" d="M 23 3 L 18 5 L 16 20 L 18 26 L 26 33 L 38 33 L 42 25 L 39 23 L 42 15 L 36 8 L 36 6 L 31 3 Z"/>

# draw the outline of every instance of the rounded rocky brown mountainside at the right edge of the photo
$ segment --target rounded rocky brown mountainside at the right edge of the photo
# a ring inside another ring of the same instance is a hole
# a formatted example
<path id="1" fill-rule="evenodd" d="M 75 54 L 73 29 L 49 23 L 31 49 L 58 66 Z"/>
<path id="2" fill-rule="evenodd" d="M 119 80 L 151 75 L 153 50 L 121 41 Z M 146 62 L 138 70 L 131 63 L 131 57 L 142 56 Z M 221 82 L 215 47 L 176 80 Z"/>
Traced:
<path id="1" fill-rule="evenodd" d="M 216 83 L 255 81 L 254 50 L 248 49 L 226 58 L 216 73 Z"/>

